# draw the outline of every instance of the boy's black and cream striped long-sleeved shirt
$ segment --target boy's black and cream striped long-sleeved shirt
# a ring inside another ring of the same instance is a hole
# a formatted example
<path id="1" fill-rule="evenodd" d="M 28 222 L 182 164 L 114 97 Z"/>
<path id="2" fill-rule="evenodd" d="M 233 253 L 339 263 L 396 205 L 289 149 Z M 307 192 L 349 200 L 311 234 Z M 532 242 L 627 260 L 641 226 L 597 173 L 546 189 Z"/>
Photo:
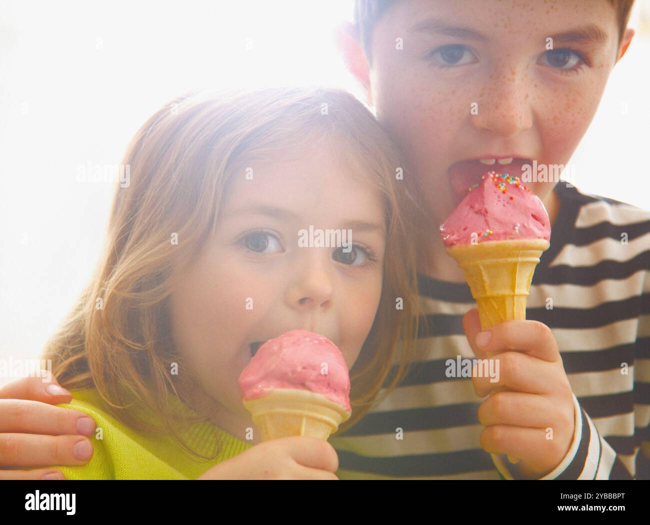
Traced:
<path id="1" fill-rule="evenodd" d="M 546 324 L 558 342 L 576 424 L 564 460 L 541 479 L 650 479 L 650 211 L 564 181 L 554 191 L 560 209 L 526 318 Z M 475 357 L 461 323 L 476 306 L 469 286 L 419 275 L 419 299 L 426 357 L 353 428 L 330 438 L 337 475 L 516 479 L 504 455 L 480 447 L 484 399 L 471 378 L 445 376 L 447 359 Z"/>

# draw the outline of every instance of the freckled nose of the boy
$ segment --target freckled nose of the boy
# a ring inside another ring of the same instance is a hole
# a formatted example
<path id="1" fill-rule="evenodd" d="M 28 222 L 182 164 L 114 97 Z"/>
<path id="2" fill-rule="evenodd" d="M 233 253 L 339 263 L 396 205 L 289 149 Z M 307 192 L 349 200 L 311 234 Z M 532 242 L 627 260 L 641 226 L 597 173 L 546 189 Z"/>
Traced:
<path id="1" fill-rule="evenodd" d="M 530 90 L 519 75 L 514 76 L 502 76 L 504 81 L 490 81 L 484 88 L 485 96 L 478 101 L 478 114 L 471 115 L 476 128 L 509 138 L 532 127 Z"/>

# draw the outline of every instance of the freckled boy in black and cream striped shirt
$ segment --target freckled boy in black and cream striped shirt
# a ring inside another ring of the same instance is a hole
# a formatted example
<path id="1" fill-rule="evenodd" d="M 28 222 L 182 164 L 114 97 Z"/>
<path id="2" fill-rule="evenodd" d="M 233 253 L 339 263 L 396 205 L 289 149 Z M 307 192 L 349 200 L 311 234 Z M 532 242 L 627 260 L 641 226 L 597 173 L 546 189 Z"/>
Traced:
<path id="1" fill-rule="evenodd" d="M 431 217 L 420 232 L 430 330 L 400 388 L 330 439 L 339 478 L 648 478 L 650 212 L 565 181 L 526 181 L 549 212 L 551 248 L 527 320 L 478 337 L 476 310 L 463 316 L 469 287 L 438 231 L 482 173 L 567 164 L 630 43 L 631 5 L 356 1 L 346 62 Z M 499 357 L 500 381 L 447 378 L 459 355 Z"/>

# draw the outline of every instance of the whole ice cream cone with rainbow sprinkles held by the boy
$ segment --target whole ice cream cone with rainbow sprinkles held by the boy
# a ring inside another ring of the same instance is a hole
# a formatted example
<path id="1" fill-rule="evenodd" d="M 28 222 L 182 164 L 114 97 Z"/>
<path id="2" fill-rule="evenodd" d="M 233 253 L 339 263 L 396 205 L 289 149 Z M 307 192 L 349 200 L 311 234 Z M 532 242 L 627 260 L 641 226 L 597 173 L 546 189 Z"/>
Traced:
<path id="1" fill-rule="evenodd" d="M 440 233 L 447 254 L 465 274 L 481 329 L 525 320 L 532 276 L 551 240 L 551 220 L 541 199 L 519 177 L 484 173 L 467 188 Z M 490 395 L 502 391 L 508 388 L 493 389 Z M 511 455 L 508 459 L 519 461 Z"/>

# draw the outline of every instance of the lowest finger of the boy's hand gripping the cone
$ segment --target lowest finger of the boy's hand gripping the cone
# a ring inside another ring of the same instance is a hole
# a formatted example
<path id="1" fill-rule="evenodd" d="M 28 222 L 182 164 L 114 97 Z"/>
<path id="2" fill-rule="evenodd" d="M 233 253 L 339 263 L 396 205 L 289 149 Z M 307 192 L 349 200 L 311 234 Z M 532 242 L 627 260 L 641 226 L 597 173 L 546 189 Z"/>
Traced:
<path id="1" fill-rule="evenodd" d="M 479 441 L 489 454 L 508 454 L 525 459 L 534 467 L 536 463 L 545 465 L 549 457 L 561 459 L 569 450 L 562 446 L 558 435 L 554 435 L 554 439 L 547 439 L 548 436 L 543 428 L 491 425 L 483 429 Z"/>

